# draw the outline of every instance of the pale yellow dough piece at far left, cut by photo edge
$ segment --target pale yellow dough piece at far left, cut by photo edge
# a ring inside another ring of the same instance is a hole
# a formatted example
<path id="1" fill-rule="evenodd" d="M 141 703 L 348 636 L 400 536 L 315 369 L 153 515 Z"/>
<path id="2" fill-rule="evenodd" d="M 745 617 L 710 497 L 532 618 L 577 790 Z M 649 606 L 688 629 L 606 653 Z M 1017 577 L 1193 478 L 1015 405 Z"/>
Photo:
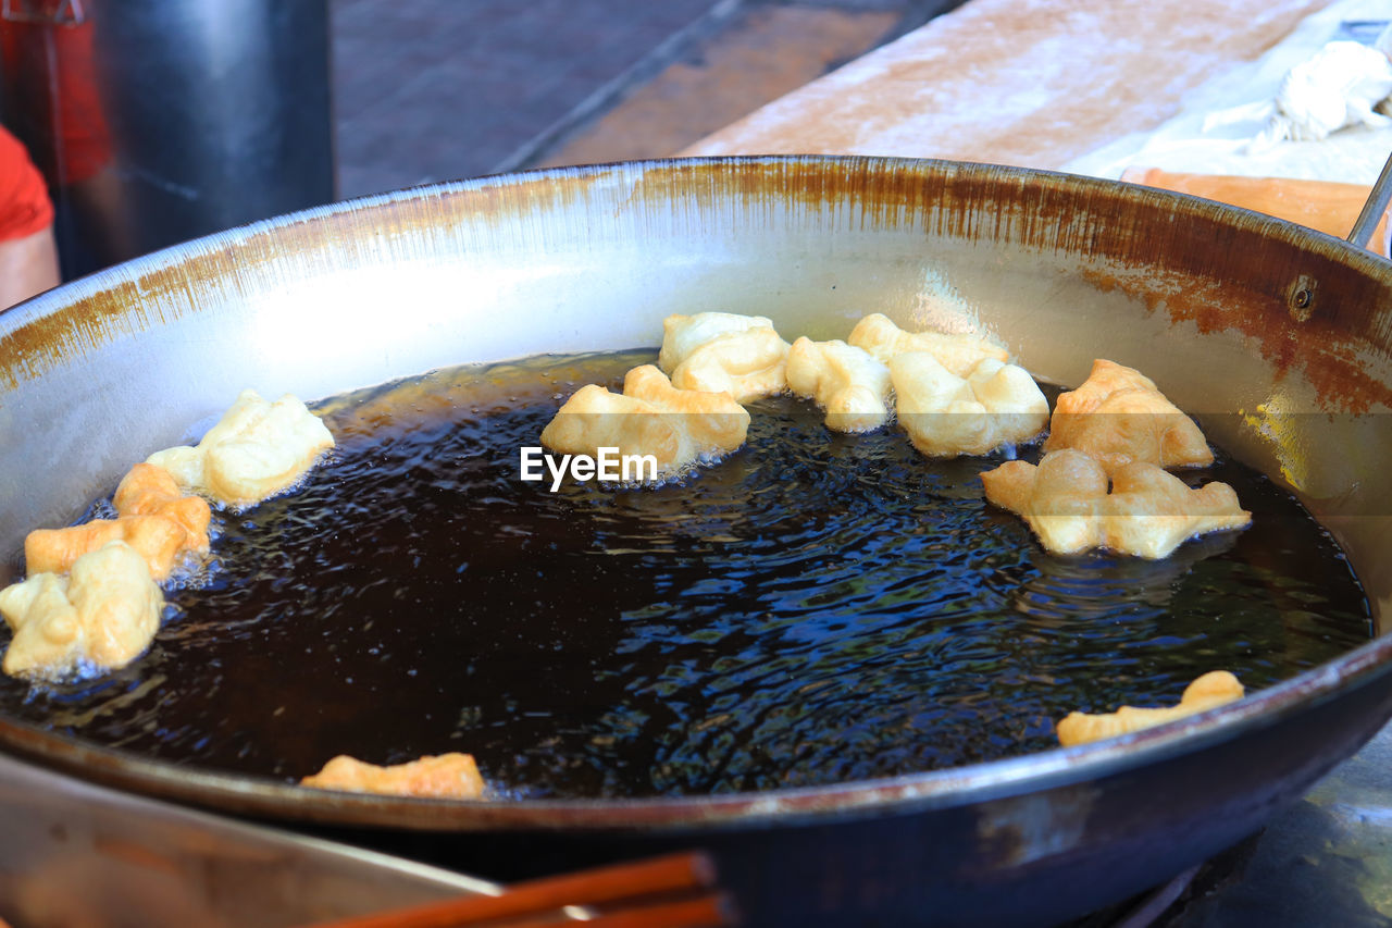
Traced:
<path id="1" fill-rule="evenodd" d="M 109 542 L 78 557 L 70 577 L 40 573 L 0 589 L 0 616 L 14 630 L 0 667 L 39 680 L 82 663 L 124 667 L 150 645 L 163 609 L 145 559 Z"/>

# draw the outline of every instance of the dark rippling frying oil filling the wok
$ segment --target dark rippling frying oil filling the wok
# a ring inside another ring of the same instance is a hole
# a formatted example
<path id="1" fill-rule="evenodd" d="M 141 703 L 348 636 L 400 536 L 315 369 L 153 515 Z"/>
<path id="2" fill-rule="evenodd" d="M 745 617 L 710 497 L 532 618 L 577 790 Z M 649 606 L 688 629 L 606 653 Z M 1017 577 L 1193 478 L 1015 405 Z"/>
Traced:
<path id="1" fill-rule="evenodd" d="M 143 755 L 298 779 L 334 754 L 477 757 L 500 796 L 835 783 L 1044 750 L 1070 709 L 1260 688 L 1370 635 L 1325 532 L 1219 460 L 1251 528 L 1158 563 L 1054 557 L 987 506 L 999 456 L 752 407 L 683 485 L 519 481 L 586 382 L 649 354 L 461 368 L 320 405 L 305 486 L 221 514 L 200 588 L 103 680 L 4 679 L 8 715 Z M 1022 454 L 1037 454 L 1023 449 Z"/>

